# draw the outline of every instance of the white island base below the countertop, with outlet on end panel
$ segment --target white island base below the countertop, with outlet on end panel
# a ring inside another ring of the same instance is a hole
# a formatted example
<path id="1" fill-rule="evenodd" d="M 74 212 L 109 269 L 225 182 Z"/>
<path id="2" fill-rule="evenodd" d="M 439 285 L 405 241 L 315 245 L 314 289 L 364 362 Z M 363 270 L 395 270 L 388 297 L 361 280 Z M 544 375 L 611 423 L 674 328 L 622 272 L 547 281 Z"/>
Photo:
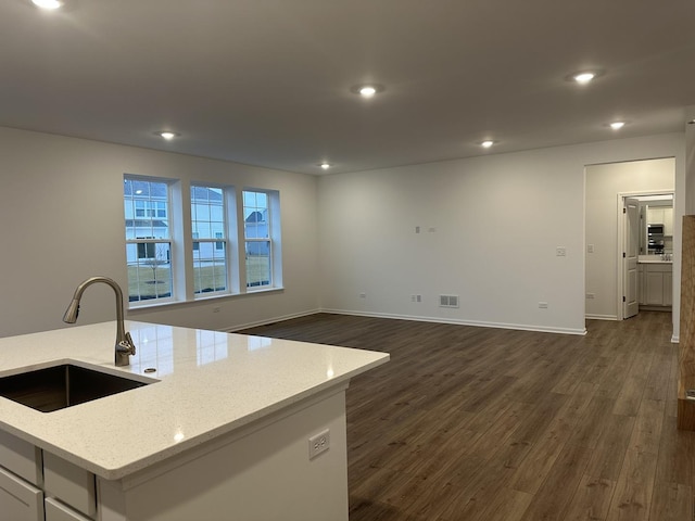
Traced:
<path id="1" fill-rule="evenodd" d="M 22 471 L 38 467 L 43 476 L 30 484 L 0 468 L 0 519 L 348 521 L 346 387 L 340 383 L 117 481 L 0 431 L 0 455 L 3 440 L 18 445 L 38 455 Z M 309 439 L 327 429 L 328 450 L 309 458 Z M 4 456 L 2 466 L 23 460 L 14 452 Z"/>

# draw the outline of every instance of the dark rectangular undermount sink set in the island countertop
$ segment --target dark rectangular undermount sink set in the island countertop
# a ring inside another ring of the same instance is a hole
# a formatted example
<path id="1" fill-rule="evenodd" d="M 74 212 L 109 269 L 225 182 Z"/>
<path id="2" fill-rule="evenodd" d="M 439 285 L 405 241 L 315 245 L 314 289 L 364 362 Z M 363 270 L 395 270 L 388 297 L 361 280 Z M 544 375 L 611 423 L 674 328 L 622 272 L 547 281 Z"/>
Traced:
<path id="1" fill-rule="evenodd" d="M 41 412 L 51 412 L 148 383 L 152 382 L 62 364 L 0 378 L 0 396 Z"/>

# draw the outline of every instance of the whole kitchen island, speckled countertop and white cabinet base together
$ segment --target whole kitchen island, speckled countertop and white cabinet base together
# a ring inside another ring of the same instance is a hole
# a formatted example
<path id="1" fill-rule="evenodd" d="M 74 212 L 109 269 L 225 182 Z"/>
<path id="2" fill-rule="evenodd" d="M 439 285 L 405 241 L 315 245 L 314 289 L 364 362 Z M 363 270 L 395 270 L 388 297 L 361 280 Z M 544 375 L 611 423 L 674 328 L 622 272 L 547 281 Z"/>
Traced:
<path id="1" fill-rule="evenodd" d="M 0 378 L 70 361 L 151 381 L 52 412 L 0 397 L 0 512 L 46 521 L 346 521 L 345 390 L 384 353 L 115 322 L 0 339 Z M 149 380 L 148 380 L 149 379 Z M 309 455 L 316 436 L 328 449 Z"/>

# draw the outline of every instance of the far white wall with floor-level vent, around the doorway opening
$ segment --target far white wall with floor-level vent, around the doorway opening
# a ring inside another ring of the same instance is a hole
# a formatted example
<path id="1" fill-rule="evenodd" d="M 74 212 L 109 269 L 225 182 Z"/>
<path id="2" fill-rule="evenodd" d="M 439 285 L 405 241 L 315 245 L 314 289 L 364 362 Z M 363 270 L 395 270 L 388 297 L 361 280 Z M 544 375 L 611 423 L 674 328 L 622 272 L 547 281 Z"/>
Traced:
<path id="1" fill-rule="evenodd" d="M 321 177 L 321 306 L 581 333 L 584 167 L 669 156 L 678 192 L 682 134 Z M 439 294 L 460 307 L 439 308 Z"/>

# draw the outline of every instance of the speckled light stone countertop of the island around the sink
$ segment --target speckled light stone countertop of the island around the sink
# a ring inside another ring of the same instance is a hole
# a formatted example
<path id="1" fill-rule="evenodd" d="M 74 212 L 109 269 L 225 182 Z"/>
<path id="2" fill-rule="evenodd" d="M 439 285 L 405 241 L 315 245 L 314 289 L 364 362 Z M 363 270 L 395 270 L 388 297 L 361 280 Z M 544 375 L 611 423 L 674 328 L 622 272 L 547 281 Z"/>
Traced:
<path id="1" fill-rule="evenodd" d="M 389 360 L 372 351 L 126 321 L 137 354 L 117 368 L 115 330 L 112 321 L 0 339 L 0 377 L 73 361 L 157 380 L 52 412 L 0 397 L 0 430 L 118 480 Z"/>

